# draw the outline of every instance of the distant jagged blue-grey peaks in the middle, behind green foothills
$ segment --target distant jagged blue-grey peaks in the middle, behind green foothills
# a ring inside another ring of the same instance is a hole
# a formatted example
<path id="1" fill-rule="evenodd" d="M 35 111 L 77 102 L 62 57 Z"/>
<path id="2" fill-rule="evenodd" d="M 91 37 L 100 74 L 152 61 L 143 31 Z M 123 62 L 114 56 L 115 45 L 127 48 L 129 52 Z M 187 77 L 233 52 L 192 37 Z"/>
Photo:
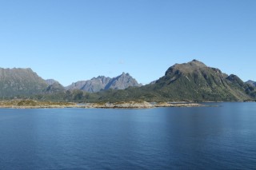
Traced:
<path id="1" fill-rule="evenodd" d="M 82 89 L 86 92 L 95 93 L 106 89 L 126 89 L 130 86 L 141 85 L 129 73 L 122 73 L 114 78 L 99 76 L 89 81 L 78 81 L 67 86 L 66 89 Z"/>

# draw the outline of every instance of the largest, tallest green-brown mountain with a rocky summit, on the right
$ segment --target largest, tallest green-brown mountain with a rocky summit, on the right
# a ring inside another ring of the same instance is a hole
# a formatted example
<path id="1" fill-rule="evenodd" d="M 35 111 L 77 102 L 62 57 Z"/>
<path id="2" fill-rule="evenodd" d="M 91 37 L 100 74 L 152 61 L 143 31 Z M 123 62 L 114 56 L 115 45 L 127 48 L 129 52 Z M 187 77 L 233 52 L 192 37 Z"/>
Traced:
<path id="1" fill-rule="evenodd" d="M 220 69 L 206 66 L 201 61 L 176 64 L 166 70 L 153 85 L 165 97 L 186 101 L 243 101 L 250 97 L 249 86 L 239 77 L 228 76 Z"/>

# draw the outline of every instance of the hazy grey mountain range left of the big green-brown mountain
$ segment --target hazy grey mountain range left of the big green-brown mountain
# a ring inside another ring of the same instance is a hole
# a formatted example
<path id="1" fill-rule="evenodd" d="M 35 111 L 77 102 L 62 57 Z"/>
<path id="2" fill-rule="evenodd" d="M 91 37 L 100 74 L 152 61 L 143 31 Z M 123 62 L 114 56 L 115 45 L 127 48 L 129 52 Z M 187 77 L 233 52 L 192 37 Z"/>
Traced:
<path id="1" fill-rule="evenodd" d="M 114 78 L 94 77 L 90 81 L 78 81 L 64 87 L 54 79 L 43 80 L 32 69 L 0 68 L 0 98 L 2 99 L 65 93 L 66 90 L 74 89 L 93 93 L 106 89 L 126 89 L 129 86 L 141 86 L 129 73 L 122 73 Z"/>

